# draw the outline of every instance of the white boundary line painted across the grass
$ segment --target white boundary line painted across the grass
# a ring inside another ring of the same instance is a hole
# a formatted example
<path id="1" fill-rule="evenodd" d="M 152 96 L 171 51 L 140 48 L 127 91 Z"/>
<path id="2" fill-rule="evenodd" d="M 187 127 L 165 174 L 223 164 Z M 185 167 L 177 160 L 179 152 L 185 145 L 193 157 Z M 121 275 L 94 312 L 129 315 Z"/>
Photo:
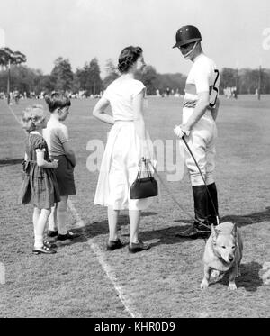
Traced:
<path id="1" fill-rule="evenodd" d="M 20 123 L 19 118 L 14 114 L 14 110 L 9 106 L 8 109 L 9 111 L 14 115 L 15 120 Z M 76 211 L 76 207 L 74 204 L 68 199 L 67 200 L 67 206 L 72 213 L 73 217 L 76 220 L 76 224 L 74 227 L 76 228 L 83 228 L 85 227 L 85 222 L 81 219 L 79 213 Z M 115 289 L 115 291 L 118 293 L 118 296 L 121 300 L 121 303 L 125 307 L 125 310 L 130 314 L 132 318 L 141 318 L 141 314 L 136 312 L 133 308 L 131 309 L 130 306 L 132 305 L 130 300 L 125 298 L 125 295 L 123 295 L 123 291 L 121 289 L 121 286 L 117 284 L 117 277 L 115 275 L 115 272 L 113 269 L 106 263 L 105 258 L 104 258 L 104 253 L 103 251 L 99 248 L 99 246 L 94 243 L 93 239 L 88 239 L 87 244 L 90 246 L 90 248 L 94 251 L 94 254 L 96 255 L 96 258 L 98 259 L 98 262 L 100 263 L 101 267 L 103 268 L 103 271 L 106 273 L 107 277 L 109 280 L 112 282 L 112 285 Z"/>

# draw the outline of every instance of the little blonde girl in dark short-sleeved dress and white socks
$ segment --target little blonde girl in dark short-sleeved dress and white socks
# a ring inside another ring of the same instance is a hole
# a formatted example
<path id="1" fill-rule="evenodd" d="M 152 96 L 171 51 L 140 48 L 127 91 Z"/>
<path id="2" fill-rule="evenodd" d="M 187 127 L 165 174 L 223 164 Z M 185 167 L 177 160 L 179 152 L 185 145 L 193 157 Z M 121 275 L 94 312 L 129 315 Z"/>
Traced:
<path id="1" fill-rule="evenodd" d="M 41 132 L 46 127 L 46 114 L 42 105 L 33 105 L 23 111 L 22 125 L 29 133 L 24 161 L 24 182 L 20 192 L 22 204 L 34 206 L 32 221 L 34 227 L 34 254 L 56 253 L 49 241 L 44 241 L 44 231 L 51 207 L 59 202 L 55 169 L 57 160 L 49 159 L 49 151 Z"/>

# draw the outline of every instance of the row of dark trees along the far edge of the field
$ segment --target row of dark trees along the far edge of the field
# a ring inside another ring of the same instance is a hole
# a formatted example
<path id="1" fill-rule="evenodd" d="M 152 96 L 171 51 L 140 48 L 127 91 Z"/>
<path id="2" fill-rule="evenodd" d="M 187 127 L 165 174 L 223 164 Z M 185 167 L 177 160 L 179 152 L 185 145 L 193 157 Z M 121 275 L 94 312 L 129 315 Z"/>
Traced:
<path id="1" fill-rule="evenodd" d="M 0 71 L 0 92 L 6 92 L 7 69 Z M 72 71 L 68 59 L 58 57 L 49 75 L 44 75 L 39 69 L 28 68 L 25 65 L 11 66 L 11 91 L 17 90 L 24 93 L 51 92 L 54 90 L 68 93 L 84 91 L 86 96 L 100 95 L 101 92 L 120 74 L 108 59 L 105 65 L 105 77 L 101 78 L 101 71 L 98 59 L 91 59 L 85 62 L 83 68 Z M 174 90 L 179 95 L 184 95 L 186 76 L 181 73 L 159 74 L 156 68 L 148 65 L 137 77 L 147 87 L 148 95 L 156 95 L 157 89 L 162 95 L 166 89 Z M 255 94 L 258 86 L 262 94 L 270 94 L 270 69 L 233 69 L 222 68 L 220 72 L 220 94 L 223 94 L 227 87 L 237 87 L 238 94 Z"/>

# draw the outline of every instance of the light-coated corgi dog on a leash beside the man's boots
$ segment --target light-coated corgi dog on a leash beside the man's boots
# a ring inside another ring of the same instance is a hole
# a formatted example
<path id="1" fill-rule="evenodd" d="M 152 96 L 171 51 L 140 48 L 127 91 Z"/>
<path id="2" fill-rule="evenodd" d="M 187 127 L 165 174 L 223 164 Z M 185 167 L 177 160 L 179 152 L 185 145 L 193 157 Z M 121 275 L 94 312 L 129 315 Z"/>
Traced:
<path id="1" fill-rule="evenodd" d="M 239 268 L 243 254 L 243 241 L 236 224 L 222 222 L 211 225 L 211 236 L 208 238 L 204 254 L 204 277 L 201 288 L 209 286 L 211 273 L 229 272 L 229 290 L 237 289 L 235 278 L 240 275 Z"/>

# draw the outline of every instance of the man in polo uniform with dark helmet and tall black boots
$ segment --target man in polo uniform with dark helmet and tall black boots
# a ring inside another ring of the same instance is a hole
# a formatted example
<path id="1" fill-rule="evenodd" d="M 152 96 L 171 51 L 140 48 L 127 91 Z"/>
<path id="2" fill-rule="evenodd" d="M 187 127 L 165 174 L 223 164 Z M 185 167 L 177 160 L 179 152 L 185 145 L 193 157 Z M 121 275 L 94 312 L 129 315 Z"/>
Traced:
<path id="1" fill-rule="evenodd" d="M 180 138 L 185 137 L 204 179 L 203 181 L 193 158 L 185 149 L 184 161 L 193 187 L 194 212 L 198 222 L 194 222 L 191 228 L 185 232 L 178 232 L 177 235 L 190 238 L 209 235 L 207 227 L 200 222 L 209 227 L 209 232 L 211 223 L 219 223 L 218 195 L 213 172 L 220 72 L 213 60 L 204 55 L 201 41 L 199 30 L 187 25 L 176 32 L 176 43 L 173 47 L 181 51 L 184 59 L 193 62 L 185 84 L 182 124 L 176 126 L 174 132 Z"/>

